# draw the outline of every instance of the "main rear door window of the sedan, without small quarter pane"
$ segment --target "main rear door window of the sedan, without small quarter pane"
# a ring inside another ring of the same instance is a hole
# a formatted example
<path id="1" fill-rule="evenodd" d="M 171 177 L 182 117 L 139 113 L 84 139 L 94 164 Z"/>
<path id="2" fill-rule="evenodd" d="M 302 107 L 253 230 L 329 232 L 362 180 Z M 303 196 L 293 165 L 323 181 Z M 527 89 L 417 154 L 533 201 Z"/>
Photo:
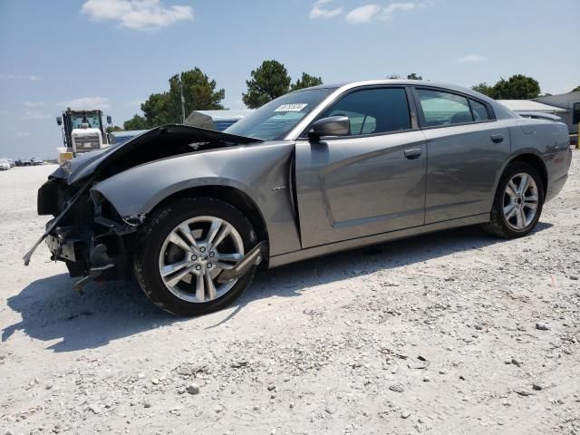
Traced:
<path id="1" fill-rule="evenodd" d="M 467 98 L 454 93 L 418 89 L 420 107 L 427 127 L 473 121 Z"/>

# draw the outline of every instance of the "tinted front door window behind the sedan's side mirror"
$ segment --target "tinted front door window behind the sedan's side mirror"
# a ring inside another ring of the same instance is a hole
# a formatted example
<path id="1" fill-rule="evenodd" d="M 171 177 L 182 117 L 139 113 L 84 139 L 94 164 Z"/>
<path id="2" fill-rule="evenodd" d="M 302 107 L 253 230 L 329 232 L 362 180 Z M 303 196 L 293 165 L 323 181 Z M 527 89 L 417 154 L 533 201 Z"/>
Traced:
<path id="1" fill-rule="evenodd" d="M 350 136 L 411 129 L 407 94 L 402 88 L 351 92 L 323 112 L 321 118 L 347 116 Z"/>

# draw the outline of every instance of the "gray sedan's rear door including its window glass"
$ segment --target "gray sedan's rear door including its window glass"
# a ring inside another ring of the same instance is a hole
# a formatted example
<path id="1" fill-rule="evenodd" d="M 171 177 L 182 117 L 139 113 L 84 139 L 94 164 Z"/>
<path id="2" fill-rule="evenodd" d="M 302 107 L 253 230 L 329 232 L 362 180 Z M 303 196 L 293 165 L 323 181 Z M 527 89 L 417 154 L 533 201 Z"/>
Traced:
<path id="1" fill-rule="evenodd" d="M 425 223 L 489 213 L 510 153 L 507 126 L 468 95 L 418 87 L 415 100 L 429 155 Z"/>

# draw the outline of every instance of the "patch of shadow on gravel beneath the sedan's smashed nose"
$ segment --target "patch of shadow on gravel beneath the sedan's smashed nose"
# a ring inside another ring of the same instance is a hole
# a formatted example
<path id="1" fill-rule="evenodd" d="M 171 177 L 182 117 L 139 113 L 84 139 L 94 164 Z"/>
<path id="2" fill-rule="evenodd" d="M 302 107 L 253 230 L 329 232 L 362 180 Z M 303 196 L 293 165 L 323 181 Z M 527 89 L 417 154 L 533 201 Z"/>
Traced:
<path id="1" fill-rule="evenodd" d="M 54 275 L 9 297 L 8 306 L 22 315 L 22 321 L 5 327 L 2 342 L 22 331 L 43 342 L 58 340 L 48 346 L 54 352 L 70 352 L 185 320 L 151 304 L 136 284 L 91 283 L 79 295 L 73 290 L 76 280 L 68 274 Z"/>

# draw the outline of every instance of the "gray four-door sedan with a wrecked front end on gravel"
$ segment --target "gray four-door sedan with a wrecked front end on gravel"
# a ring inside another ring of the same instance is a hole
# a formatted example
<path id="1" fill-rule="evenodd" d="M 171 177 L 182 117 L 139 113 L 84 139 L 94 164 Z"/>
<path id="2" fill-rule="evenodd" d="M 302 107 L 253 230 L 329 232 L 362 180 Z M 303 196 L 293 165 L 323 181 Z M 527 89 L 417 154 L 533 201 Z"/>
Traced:
<path id="1" fill-rule="evenodd" d="M 565 124 L 468 89 L 324 85 L 225 132 L 170 124 L 67 162 L 39 190 L 39 214 L 55 218 L 36 246 L 46 239 L 79 287 L 134 275 L 163 309 L 204 314 L 257 266 L 449 227 L 526 236 L 571 157 Z"/>

